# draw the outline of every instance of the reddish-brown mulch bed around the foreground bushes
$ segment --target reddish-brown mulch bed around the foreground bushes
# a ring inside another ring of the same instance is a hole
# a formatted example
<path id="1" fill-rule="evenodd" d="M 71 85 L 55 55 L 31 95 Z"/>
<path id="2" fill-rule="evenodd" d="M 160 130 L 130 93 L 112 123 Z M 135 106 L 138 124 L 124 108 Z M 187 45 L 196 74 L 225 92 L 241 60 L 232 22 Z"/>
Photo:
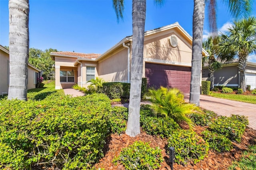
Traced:
<path id="1" fill-rule="evenodd" d="M 195 132 L 199 135 L 206 127 L 195 127 Z M 127 147 L 136 140 L 141 140 L 144 142 L 150 142 L 151 147 L 159 146 L 162 149 L 162 154 L 164 156 L 164 161 L 160 170 L 170 170 L 169 156 L 165 152 L 167 138 L 160 138 L 158 136 L 151 136 L 146 134 L 141 130 L 141 133 L 136 137 L 130 137 L 126 134 L 112 134 L 108 138 L 108 142 L 105 145 L 104 152 L 105 156 L 96 165 L 96 169 L 105 168 L 105 170 L 124 170 L 122 164 L 114 165 L 112 160 L 115 156 L 118 156 L 122 148 Z M 249 145 L 256 144 L 256 130 L 252 128 L 246 128 L 244 135 L 242 136 L 242 141 L 240 143 L 232 142 L 233 149 L 230 152 L 218 153 L 212 150 L 209 151 L 209 155 L 204 160 L 194 164 L 193 162 L 188 162 L 186 165 L 179 165 L 174 163 L 174 170 L 223 170 L 227 169 L 228 166 L 232 164 L 232 161 L 239 160 L 242 151 L 246 150 Z"/>

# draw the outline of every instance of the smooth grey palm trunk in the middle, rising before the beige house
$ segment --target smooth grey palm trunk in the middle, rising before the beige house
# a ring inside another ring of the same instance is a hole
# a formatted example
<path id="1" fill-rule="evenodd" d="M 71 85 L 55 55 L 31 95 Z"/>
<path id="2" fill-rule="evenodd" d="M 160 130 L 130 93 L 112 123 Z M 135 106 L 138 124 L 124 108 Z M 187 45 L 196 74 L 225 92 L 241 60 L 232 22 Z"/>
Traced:
<path id="1" fill-rule="evenodd" d="M 140 95 L 142 84 L 142 65 L 144 30 L 146 19 L 146 0 L 132 0 L 132 64 L 129 114 L 126 134 L 140 134 Z"/>

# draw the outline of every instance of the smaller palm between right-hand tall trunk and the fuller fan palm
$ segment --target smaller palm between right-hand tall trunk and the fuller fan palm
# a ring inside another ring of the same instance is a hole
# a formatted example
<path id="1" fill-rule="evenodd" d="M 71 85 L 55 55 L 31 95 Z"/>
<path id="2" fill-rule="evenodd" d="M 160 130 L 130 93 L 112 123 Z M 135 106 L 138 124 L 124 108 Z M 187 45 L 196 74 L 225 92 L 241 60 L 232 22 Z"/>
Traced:
<path id="1" fill-rule="evenodd" d="M 219 40 L 219 36 L 216 37 L 215 41 Z M 214 88 L 214 71 L 221 69 L 221 62 L 216 60 L 216 53 L 214 50 L 214 39 L 212 37 L 208 37 L 207 40 L 203 42 L 204 49 L 208 52 L 209 56 L 202 58 L 202 66 L 207 63 L 208 71 L 210 73 L 210 90 Z"/>

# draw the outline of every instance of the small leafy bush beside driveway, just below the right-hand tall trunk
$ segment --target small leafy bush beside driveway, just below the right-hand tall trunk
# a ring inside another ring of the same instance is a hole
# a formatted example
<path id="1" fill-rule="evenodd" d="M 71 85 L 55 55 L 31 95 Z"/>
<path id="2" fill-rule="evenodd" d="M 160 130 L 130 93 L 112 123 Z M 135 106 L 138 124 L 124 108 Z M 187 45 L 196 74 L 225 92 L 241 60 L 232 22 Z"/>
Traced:
<path id="1" fill-rule="evenodd" d="M 204 113 L 192 113 L 190 114 L 190 119 L 196 125 L 208 126 L 213 119 L 217 117 L 217 114 L 213 111 L 204 110 Z"/>

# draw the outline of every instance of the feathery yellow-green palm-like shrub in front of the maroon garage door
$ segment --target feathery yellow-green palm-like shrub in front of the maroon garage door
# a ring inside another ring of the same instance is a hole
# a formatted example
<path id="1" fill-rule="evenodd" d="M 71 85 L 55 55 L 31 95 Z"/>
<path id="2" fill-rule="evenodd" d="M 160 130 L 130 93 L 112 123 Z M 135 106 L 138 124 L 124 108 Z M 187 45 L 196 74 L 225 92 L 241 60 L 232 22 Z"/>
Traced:
<path id="1" fill-rule="evenodd" d="M 145 98 L 152 102 L 151 108 L 155 113 L 170 117 L 176 123 L 186 121 L 190 128 L 193 127 L 193 123 L 188 115 L 201 112 L 196 105 L 185 103 L 184 95 L 176 88 L 149 89 Z"/>

